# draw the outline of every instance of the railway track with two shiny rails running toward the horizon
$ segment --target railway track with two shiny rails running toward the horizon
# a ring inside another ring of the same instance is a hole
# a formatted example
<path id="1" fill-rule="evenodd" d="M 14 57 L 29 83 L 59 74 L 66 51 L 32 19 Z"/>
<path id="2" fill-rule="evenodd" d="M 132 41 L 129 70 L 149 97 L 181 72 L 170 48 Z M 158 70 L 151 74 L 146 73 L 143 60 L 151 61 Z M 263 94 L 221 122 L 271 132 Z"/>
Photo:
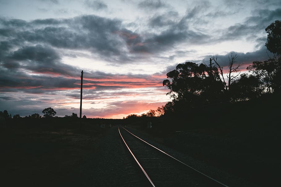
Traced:
<path id="1" fill-rule="evenodd" d="M 220 186 L 228 187 L 208 175 L 147 143 L 125 128 L 119 133 L 151 186 Z"/>

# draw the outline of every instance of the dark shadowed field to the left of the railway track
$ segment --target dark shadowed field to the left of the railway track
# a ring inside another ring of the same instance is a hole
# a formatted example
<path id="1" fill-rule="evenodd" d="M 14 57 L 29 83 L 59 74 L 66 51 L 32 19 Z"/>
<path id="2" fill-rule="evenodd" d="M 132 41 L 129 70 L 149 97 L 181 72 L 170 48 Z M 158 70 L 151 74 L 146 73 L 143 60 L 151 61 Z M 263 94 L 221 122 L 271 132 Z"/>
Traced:
<path id="1" fill-rule="evenodd" d="M 32 126 L 32 127 L 30 127 Z M 107 129 L 79 123 L 13 124 L 0 132 L 3 186 L 74 186 L 79 165 Z M 4 185 L 5 184 L 5 185 Z"/>

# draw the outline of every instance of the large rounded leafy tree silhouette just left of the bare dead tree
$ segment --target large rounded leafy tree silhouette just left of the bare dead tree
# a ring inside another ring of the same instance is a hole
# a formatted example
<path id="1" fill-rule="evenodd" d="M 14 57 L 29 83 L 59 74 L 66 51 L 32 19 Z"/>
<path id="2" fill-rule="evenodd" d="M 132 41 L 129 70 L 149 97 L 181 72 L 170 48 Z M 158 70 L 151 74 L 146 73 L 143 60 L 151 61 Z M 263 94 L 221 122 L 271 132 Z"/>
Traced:
<path id="1" fill-rule="evenodd" d="M 192 62 L 178 64 L 175 70 L 167 73 L 167 78 L 163 86 L 170 89 L 167 94 L 173 98 L 174 110 L 184 111 L 186 108 L 215 103 L 223 91 L 217 68 L 207 67 L 203 63 L 199 66 Z"/>

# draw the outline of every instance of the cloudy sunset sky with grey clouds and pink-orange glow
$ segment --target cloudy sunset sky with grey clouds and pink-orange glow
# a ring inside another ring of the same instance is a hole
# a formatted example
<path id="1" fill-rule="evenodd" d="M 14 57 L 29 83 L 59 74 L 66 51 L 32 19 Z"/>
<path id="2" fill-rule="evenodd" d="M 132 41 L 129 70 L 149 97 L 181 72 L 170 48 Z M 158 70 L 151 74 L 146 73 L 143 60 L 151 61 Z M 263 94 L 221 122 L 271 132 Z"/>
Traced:
<path id="1" fill-rule="evenodd" d="M 162 82 L 184 62 L 242 72 L 272 56 L 279 0 L 0 0 L 0 111 L 120 119 L 171 101 Z M 227 73 L 225 71 L 224 73 Z"/>

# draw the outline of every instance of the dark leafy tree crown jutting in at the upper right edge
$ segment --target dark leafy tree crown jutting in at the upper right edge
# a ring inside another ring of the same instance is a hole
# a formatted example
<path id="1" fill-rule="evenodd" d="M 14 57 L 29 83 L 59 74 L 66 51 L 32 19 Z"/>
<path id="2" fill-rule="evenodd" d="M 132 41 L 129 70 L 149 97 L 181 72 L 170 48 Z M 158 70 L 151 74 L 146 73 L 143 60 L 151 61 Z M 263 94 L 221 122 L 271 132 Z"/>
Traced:
<path id="1" fill-rule="evenodd" d="M 276 20 L 265 29 L 267 33 L 266 48 L 277 55 L 281 55 L 281 21 Z"/>

